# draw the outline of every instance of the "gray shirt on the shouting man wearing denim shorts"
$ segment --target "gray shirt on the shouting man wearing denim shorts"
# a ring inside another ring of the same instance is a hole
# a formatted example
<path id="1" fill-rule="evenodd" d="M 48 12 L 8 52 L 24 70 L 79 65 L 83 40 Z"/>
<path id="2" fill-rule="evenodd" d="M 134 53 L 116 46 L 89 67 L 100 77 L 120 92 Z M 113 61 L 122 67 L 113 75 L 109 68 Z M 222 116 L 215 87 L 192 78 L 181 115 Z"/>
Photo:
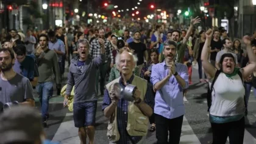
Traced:
<path id="1" fill-rule="evenodd" d="M 104 63 L 105 54 L 97 58 L 88 58 L 84 63 L 79 57 L 71 60 L 68 73 L 66 94 L 70 95 L 74 86 L 74 103 L 85 103 L 97 100 L 96 73 L 98 67 Z M 81 65 L 82 64 L 82 65 Z"/>

